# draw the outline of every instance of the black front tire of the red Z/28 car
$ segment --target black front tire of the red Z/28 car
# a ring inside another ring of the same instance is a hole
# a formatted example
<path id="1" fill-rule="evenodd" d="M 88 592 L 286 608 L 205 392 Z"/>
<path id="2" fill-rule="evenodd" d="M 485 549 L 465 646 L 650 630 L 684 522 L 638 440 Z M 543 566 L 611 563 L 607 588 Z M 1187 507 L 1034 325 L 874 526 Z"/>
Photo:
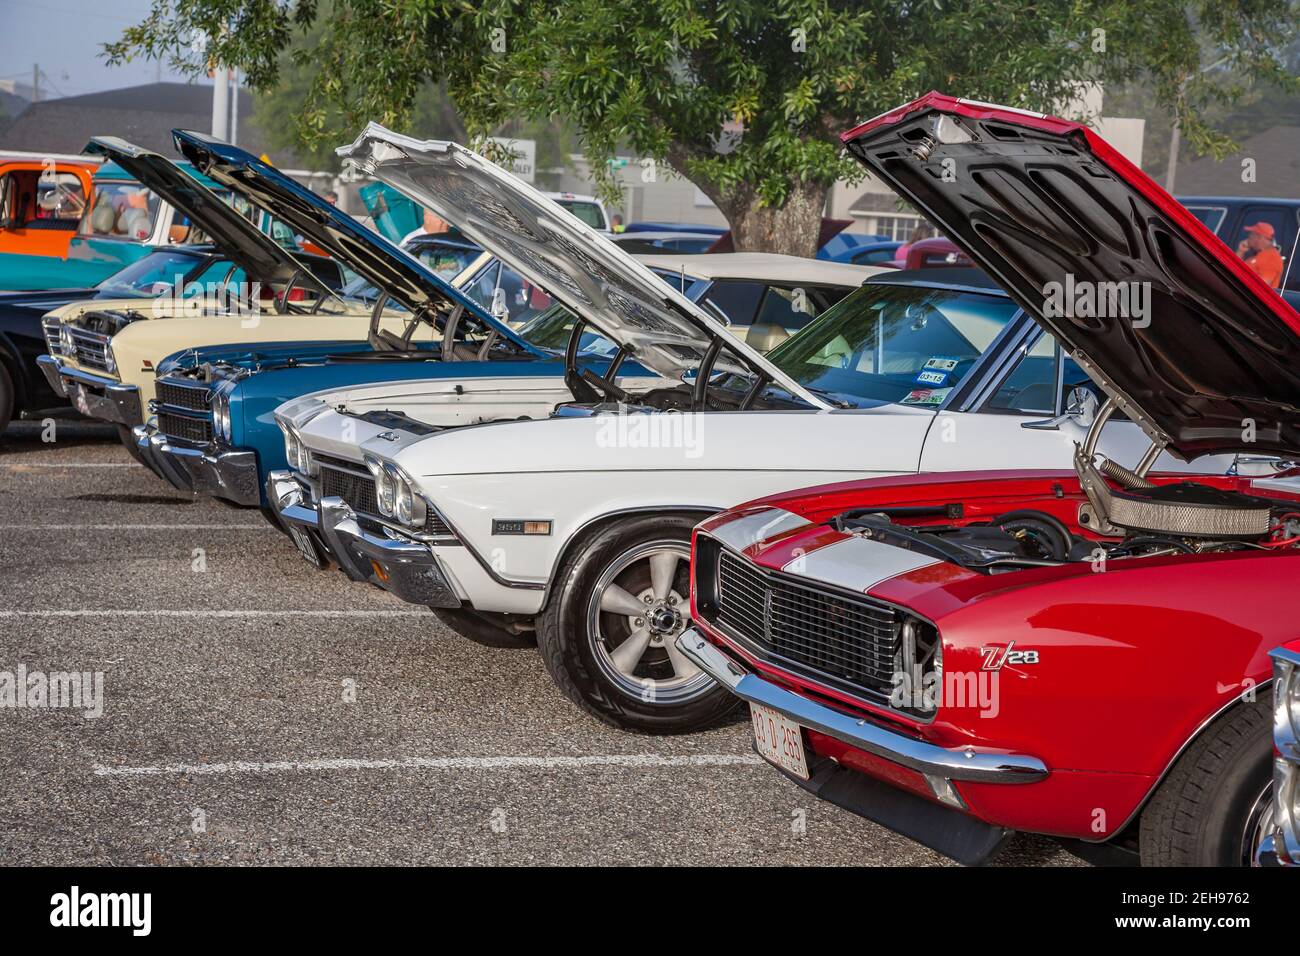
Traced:
<path id="1" fill-rule="evenodd" d="M 1143 866 L 1244 866 L 1254 814 L 1269 813 L 1273 714 L 1243 702 L 1212 723 L 1174 763 L 1141 813 Z"/>

